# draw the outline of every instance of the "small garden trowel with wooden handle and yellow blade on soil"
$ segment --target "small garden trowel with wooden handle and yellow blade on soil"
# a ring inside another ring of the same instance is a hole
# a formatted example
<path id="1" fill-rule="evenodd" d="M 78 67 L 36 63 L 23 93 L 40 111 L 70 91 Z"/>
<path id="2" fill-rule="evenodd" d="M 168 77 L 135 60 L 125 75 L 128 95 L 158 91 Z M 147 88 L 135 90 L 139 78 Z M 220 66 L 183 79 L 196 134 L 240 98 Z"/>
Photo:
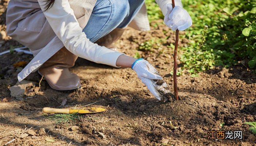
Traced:
<path id="1" fill-rule="evenodd" d="M 62 108 L 50 108 L 50 107 L 44 107 L 43 112 L 44 113 L 56 113 L 56 114 L 73 114 L 78 112 L 79 114 L 90 114 L 90 113 L 96 113 L 96 112 L 103 112 L 106 111 L 105 108 L 86 108 L 84 110 L 72 110 L 72 109 L 62 109 Z"/>

